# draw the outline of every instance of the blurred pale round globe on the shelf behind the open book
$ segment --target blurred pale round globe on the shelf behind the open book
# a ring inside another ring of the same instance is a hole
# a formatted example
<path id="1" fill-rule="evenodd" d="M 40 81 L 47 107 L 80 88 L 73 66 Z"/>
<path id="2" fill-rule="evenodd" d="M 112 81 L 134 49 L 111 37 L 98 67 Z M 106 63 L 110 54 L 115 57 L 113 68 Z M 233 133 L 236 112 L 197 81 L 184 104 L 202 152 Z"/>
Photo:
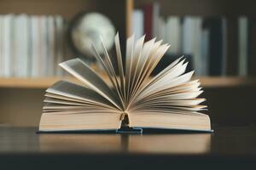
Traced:
<path id="1" fill-rule="evenodd" d="M 77 14 L 68 31 L 68 39 L 74 52 L 86 59 L 94 59 L 91 53 L 91 42 L 102 54 L 103 48 L 100 37 L 102 37 L 108 50 L 113 46 L 114 35 L 115 29 L 111 20 L 107 16 L 96 12 Z"/>

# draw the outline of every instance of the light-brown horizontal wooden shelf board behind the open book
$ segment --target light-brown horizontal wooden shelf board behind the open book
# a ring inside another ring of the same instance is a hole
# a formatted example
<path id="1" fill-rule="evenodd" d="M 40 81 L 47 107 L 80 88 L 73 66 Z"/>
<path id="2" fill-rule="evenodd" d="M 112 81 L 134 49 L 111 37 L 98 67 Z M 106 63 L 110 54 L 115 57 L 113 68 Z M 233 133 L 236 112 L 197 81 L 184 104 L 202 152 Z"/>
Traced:
<path id="1" fill-rule="evenodd" d="M 0 88 L 49 88 L 59 80 L 78 82 L 73 77 L 0 78 Z M 205 88 L 256 86 L 256 77 L 193 77 Z"/>

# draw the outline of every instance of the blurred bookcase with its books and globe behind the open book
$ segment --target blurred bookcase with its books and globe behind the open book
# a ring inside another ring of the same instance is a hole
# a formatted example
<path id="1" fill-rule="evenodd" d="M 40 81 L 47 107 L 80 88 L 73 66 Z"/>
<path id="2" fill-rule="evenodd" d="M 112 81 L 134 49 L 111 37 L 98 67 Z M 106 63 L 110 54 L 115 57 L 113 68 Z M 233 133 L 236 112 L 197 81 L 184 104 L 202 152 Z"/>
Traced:
<path id="1" fill-rule="evenodd" d="M 45 89 L 74 80 L 57 64 L 80 57 L 101 71 L 83 44 L 102 33 L 111 53 L 116 31 L 121 47 L 132 33 L 171 44 L 154 74 L 184 55 L 212 124 L 254 124 L 255 7 L 253 0 L 0 0 L 0 124 L 38 126 Z"/>

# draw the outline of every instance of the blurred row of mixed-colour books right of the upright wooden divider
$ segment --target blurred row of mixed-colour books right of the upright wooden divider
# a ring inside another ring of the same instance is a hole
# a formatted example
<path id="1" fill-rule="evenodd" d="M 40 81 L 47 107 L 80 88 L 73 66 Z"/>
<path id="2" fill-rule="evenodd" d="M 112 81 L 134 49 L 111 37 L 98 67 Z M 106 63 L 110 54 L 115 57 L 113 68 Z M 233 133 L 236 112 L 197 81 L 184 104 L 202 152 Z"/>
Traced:
<path id="1" fill-rule="evenodd" d="M 250 52 L 255 50 L 256 39 L 253 42 L 249 38 L 252 31 L 256 32 L 251 26 L 255 23 L 246 16 L 240 16 L 235 21 L 236 32 L 229 32 L 228 22 L 225 17 L 161 16 L 160 4 L 149 3 L 133 10 L 131 31 L 136 37 L 146 34 L 146 40 L 157 37 L 157 40 L 170 43 L 164 58 L 166 62 L 168 59 L 172 62 L 175 56 L 187 56 L 197 76 L 256 75 L 255 65 L 251 62 L 255 56 Z M 233 38 L 237 41 L 230 42 L 228 36 L 237 37 Z M 230 43 L 236 45 L 231 47 Z M 235 63 L 229 63 L 228 55 L 233 53 L 229 50 L 237 53 L 237 56 L 232 56 L 237 58 Z M 236 67 L 235 71 L 230 73 L 227 65 Z"/>

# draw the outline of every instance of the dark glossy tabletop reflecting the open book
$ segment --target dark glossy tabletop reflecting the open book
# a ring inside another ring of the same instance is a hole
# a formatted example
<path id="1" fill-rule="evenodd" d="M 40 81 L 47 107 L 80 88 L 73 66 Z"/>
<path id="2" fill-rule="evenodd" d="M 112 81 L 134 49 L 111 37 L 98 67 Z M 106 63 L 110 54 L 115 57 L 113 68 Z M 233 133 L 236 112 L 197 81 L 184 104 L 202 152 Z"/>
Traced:
<path id="1" fill-rule="evenodd" d="M 0 127 L 0 169 L 245 169 L 256 164 L 256 127 L 214 130 L 38 134 L 35 127 Z"/>

